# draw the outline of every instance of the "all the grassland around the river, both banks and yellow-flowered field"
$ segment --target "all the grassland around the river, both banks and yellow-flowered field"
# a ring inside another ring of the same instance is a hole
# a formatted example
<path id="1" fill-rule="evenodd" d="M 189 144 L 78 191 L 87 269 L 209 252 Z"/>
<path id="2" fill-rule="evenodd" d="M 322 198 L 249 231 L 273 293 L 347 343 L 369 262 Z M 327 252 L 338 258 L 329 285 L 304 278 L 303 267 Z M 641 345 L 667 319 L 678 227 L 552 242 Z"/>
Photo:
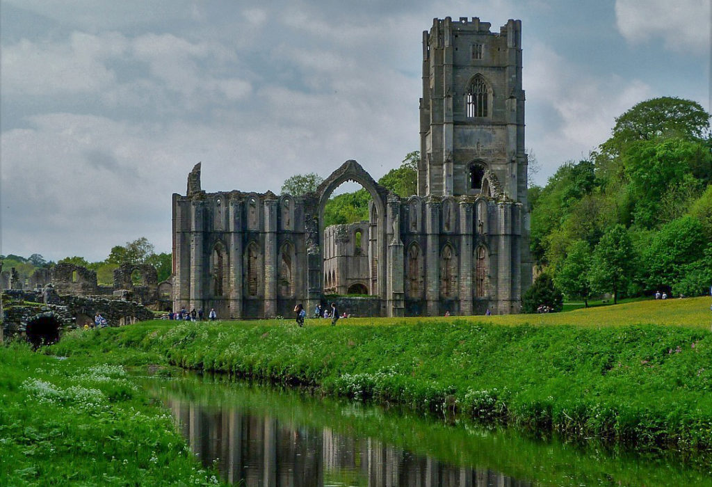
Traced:
<path id="1" fill-rule="evenodd" d="M 127 375 L 147 365 L 676 451 L 704 465 L 712 458 L 709 305 L 649 300 L 551 315 L 307 320 L 305 328 L 153 320 L 75 330 L 40 352 L 15 342 L 0 347 L 0 485 L 219 482 Z"/>

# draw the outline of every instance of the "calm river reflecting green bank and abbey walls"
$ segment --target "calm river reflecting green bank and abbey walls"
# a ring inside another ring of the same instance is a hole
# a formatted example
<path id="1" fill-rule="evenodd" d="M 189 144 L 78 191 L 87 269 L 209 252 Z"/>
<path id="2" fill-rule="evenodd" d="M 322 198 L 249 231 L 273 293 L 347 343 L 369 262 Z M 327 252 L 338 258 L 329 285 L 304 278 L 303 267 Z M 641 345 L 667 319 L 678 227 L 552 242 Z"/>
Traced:
<path id="1" fill-rule="evenodd" d="M 709 468 L 186 375 L 145 379 L 204 465 L 256 486 L 712 486 Z"/>

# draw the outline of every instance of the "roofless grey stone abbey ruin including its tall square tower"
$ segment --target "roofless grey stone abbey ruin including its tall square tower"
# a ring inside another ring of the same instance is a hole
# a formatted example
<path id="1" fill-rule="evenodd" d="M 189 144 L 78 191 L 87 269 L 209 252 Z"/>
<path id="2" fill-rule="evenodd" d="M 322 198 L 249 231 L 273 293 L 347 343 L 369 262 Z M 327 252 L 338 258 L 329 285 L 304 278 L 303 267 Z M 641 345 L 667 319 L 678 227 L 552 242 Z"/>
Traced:
<path id="1" fill-rule="evenodd" d="M 418 195 L 401 199 L 347 161 L 293 197 L 173 195 L 173 303 L 220 317 L 313 310 L 325 293 L 355 315 L 517 313 L 532 280 L 520 21 L 435 19 L 423 37 Z M 355 181 L 369 220 L 323 228 L 326 201 Z"/>

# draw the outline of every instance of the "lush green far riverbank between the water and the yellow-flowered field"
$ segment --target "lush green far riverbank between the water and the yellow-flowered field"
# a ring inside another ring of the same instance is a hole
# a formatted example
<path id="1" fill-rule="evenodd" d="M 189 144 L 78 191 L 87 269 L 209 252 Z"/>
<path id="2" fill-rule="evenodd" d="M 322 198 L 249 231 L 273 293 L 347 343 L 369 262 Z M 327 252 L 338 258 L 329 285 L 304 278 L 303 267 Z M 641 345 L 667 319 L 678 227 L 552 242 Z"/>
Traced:
<path id="1" fill-rule="evenodd" d="M 712 335 L 701 327 L 365 321 L 305 328 L 155 321 L 73 332 L 53 352 L 103 352 L 119 362 L 162 357 L 569 438 L 701 456 L 712 450 Z"/>

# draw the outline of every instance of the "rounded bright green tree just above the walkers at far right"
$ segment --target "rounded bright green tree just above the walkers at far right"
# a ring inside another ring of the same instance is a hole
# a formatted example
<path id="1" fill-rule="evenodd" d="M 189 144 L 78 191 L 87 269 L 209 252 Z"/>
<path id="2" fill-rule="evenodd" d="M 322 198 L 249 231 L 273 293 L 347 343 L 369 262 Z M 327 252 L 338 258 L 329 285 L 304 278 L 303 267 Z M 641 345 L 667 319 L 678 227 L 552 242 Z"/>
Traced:
<path id="1" fill-rule="evenodd" d="M 691 216 L 663 226 L 645 253 L 649 288 L 672 286 L 679 281 L 683 267 L 697 261 L 708 242 L 702 224 Z"/>

